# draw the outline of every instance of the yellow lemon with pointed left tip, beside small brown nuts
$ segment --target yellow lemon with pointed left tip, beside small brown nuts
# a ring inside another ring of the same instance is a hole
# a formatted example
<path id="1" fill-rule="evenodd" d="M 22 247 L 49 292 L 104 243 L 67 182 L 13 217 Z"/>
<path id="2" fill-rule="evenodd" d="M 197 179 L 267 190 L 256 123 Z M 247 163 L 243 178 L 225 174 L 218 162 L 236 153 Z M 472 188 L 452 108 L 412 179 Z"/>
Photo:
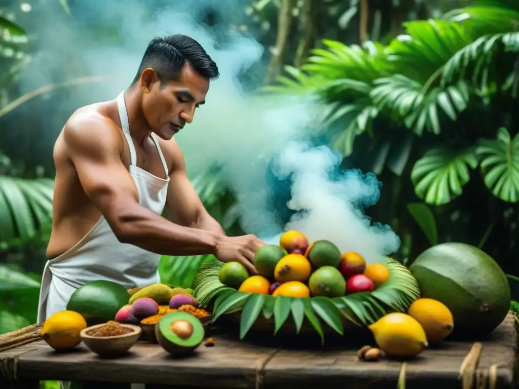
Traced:
<path id="1" fill-rule="evenodd" d="M 415 356 L 428 346 L 424 328 L 405 313 L 388 313 L 368 328 L 379 348 L 390 355 Z"/>

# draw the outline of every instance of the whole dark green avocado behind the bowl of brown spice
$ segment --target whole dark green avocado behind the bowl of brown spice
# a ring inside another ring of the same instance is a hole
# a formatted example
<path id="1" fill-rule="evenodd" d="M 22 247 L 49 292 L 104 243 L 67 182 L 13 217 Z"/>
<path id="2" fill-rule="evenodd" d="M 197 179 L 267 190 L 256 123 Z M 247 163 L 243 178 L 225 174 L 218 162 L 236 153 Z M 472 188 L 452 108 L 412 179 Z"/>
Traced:
<path id="1" fill-rule="evenodd" d="M 66 309 L 85 318 L 88 326 L 114 320 L 117 311 L 128 304 L 130 294 L 112 281 L 92 281 L 79 287 L 69 299 Z"/>

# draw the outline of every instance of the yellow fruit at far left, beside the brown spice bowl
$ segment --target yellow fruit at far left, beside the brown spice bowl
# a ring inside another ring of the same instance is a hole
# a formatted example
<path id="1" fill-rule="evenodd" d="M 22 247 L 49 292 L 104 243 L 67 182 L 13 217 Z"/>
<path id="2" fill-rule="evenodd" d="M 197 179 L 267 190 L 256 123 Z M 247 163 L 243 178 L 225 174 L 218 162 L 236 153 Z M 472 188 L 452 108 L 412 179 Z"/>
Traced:
<path id="1" fill-rule="evenodd" d="M 46 319 L 40 335 L 54 350 L 67 350 L 81 343 L 79 332 L 85 328 L 87 322 L 79 313 L 60 311 Z"/>

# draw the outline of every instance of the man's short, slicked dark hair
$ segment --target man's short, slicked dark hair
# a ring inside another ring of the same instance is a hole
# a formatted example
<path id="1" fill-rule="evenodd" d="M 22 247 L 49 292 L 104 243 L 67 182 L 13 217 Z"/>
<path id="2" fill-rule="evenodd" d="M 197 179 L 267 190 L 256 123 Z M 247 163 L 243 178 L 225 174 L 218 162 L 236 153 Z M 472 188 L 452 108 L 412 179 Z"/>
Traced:
<path id="1" fill-rule="evenodd" d="M 216 63 L 195 39 L 175 34 L 157 37 L 149 42 L 131 85 L 139 81 L 142 72 L 148 67 L 155 71 L 161 84 L 178 80 L 186 62 L 204 78 L 214 80 L 220 75 Z"/>

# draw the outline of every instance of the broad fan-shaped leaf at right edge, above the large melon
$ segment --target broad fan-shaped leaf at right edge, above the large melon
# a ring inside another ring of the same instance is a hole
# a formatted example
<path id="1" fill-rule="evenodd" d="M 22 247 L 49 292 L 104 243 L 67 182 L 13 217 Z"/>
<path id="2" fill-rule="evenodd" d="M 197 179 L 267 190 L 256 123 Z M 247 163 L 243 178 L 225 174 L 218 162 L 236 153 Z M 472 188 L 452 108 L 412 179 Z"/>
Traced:
<path id="1" fill-rule="evenodd" d="M 519 134 L 512 139 L 507 129 L 500 128 L 497 139 L 482 141 L 476 152 L 485 185 L 494 196 L 519 201 Z"/>

